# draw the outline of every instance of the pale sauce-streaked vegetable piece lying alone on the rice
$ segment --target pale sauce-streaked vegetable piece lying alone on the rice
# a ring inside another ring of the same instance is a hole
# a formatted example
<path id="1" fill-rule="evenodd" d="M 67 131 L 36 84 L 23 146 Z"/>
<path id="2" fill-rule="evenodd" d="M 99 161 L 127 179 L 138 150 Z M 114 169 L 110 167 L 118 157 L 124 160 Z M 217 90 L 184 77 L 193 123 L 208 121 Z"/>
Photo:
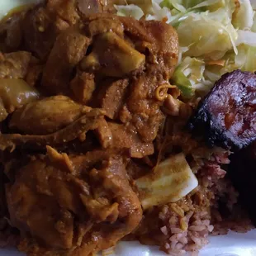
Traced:
<path id="1" fill-rule="evenodd" d="M 178 201 L 198 185 L 183 153 L 164 160 L 152 173 L 136 180 L 144 209 Z"/>

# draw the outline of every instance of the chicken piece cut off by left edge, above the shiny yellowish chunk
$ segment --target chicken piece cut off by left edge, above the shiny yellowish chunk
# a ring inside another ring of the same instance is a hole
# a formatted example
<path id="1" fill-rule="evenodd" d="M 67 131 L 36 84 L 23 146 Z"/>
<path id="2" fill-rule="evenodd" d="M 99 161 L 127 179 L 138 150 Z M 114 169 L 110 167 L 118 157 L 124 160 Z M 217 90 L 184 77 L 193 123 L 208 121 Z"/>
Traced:
<path id="1" fill-rule="evenodd" d="M 4 54 L 0 58 L 0 78 L 25 78 L 31 53 L 17 51 L 11 54 Z"/>

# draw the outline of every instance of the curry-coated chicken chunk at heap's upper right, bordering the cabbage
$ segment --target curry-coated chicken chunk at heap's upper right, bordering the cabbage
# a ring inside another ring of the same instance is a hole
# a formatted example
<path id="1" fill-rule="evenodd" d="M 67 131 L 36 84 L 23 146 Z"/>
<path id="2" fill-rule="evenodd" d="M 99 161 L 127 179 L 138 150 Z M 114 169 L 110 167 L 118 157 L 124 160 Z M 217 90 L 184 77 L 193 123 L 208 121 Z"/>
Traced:
<path id="1" fill-rule="evenodd" d="M 178 63 L 178 34 L 162 21 L 136 21 L 119 17 L 126 33 L 135 40 L 136 49 L 146 55 L 146 69 L 163 73 L 169 79 Z"/>

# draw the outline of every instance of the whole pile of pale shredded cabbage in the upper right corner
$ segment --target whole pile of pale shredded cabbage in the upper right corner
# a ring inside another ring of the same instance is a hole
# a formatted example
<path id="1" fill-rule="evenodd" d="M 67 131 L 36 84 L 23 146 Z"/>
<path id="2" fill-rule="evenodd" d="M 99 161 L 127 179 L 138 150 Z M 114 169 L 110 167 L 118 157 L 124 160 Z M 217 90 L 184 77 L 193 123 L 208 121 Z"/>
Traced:
<path id="1" fill-rule="evenodd" d="M 127 2 L 126 12 L 116 6 L 119 15 L 164 20 L 178 31 L 180 53 L 171 82 L 183 97 L 209 92 L 226 72 L 256 71 L 256 0 Z"/>

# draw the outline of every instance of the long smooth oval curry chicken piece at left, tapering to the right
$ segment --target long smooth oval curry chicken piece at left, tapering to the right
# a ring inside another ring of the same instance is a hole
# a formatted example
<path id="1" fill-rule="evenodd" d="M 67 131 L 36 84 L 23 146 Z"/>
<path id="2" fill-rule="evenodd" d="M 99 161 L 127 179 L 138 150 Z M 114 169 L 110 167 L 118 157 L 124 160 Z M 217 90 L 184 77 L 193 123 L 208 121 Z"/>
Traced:
<path id="1" fill-rule="evenodd" d="M 46 97 L 15 111 L 9 127 L 25 135 L 49 135 L 69 126 L 88 110 L 69 97 Z"/>

